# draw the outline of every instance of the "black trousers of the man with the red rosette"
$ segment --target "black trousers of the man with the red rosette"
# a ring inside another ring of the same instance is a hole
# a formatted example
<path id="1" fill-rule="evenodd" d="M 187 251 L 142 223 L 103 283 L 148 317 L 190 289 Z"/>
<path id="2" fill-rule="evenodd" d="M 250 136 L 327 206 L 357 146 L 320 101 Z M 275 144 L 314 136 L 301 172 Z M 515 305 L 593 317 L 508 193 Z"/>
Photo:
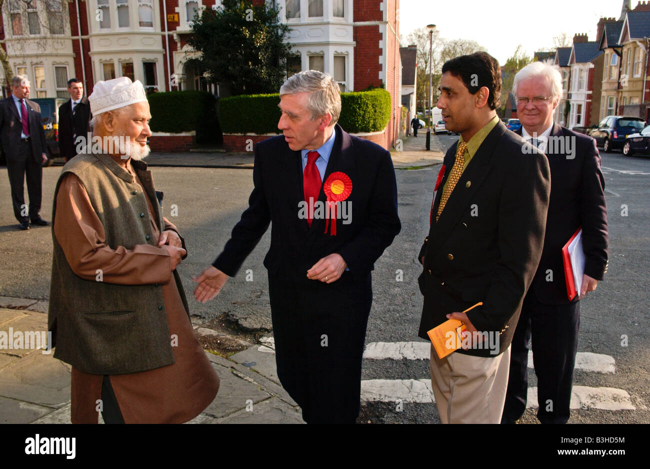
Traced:
<path id="1" fill-rule="evenodd" d="M 355 423 L 372 303 L 370 275 L 332 284 L 269 275 L 278 377 L 307 423 Z M 341 282 L 341 283 L 339 283 Z"/>

